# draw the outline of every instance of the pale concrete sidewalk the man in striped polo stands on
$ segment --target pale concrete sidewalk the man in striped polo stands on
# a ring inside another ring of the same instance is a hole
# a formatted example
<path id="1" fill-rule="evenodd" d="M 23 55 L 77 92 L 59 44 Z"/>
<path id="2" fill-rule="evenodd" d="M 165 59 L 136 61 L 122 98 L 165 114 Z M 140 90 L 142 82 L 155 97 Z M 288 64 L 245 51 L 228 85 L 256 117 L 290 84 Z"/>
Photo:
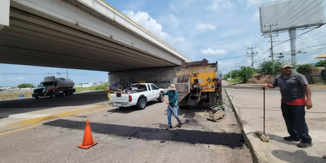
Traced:
<path id="1" fill-rule="evenodd" d="M 255 131 L 263 130 L 263 91 L 226 89 L 233 98 L 234 114 L 242 127 L 244 139 L 259 163 L 326 163 L 326 94 L 312 93 L 313 108 L 306 111 L 306 123 L 313 147 L 299 148 L 296 142 L 284 141 L 289 136 L 280 109 L 279 91 L 265 91 L 265 132 L 270 142 L 262 142 Z"/>

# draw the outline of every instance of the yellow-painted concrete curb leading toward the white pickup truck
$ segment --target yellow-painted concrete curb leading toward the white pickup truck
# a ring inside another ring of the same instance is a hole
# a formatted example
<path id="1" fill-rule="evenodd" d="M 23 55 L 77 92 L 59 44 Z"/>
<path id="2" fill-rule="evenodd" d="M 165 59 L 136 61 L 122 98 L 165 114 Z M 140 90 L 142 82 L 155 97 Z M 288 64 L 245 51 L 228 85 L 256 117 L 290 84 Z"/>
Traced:
<path id="1" fill-rule="evenodd" d="M 87 107 L 84 109 L 67 111 L 67 112 L 62 112 L 62 113 L 58 113 L 58 114 L 51 114 L 51 115 L 46 115 L 46 116 L 42 116 L 42 117 L 22 120 L 19 122 L 13 122 L 13 123 L 9 123 L 7 126 L 0 127 L 0 132 L 15 129 L 15 128 L 20 128 L 20 127 L 24 127 L 24 126 L 28 126 L 28 125 L 33 125 L 38 122 L 41 122 L 44 120 L 49 120 L 52 118 L 65 117 L 65 116 L 70 116 L 70 115 L 74 115 L 74 114 L 78 114 L 78 113 L 89 112 L 89 111 L 93 111 L 93 110 L 96 110 L 99 108 L 103 108 L 105 106 L 106 106 L 105 104 L 101 104 L 101 105 L 97 105 L 97 106 Z"/>

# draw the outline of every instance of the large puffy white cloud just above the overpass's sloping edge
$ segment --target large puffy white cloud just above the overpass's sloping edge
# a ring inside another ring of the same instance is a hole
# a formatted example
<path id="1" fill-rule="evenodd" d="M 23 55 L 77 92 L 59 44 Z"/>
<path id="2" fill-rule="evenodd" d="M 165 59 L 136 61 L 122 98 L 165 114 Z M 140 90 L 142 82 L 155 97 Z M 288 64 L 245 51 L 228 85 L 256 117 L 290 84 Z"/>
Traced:
<path id="1" fill-rule="evenodd" d="M 134 11 L 122 11 L 127 17 L 141 25 L 143 28 L 150 31 L 152 34 L 156 35 L 158 38 L 166 41 L 185 41 L 183 37 L 171 37 L 168 33 L 162 32 L 162 25 L 158 24 L 155 19 L 153 19 L 147 12 L 138 11 L 134 13 Z M 171 18 L 174 23 L 177 23 L 176 18 L 171 14 Z M 178 24 L 177 24 L 178 26 Z"/>

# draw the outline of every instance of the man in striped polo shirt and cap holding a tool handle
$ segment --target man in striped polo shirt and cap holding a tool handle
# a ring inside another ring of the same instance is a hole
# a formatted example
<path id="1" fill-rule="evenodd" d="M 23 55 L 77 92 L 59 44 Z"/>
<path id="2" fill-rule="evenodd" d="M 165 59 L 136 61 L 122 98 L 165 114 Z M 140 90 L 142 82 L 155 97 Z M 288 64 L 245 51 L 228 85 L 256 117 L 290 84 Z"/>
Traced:
<path id="1" fill-rule="evenodd" d="M 277 76 L 272 84 L 264 84 L 263 88 L 279 87 L 281 92 L 281 110 L 290 136 L 284 137 L 286 141 L 301 141 L 298 147 L 312 146 L 305 122 L 305 110 L 312 108 L 311 90 L 304 75 L 292 72 L 291 63 L 283 63 L 282 74 Z"/>

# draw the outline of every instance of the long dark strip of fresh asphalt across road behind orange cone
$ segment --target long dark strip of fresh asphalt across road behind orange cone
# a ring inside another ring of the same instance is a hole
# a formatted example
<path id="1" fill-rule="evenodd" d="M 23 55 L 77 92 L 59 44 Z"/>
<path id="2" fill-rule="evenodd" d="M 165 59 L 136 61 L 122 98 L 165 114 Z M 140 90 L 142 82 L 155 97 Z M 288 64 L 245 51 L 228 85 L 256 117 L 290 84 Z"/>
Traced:
<path id="1" fill-rule="evenodd" d="M 85 122 L 70 121 L 66 119 L 58 119 L 44 123 L 43 125 L 79 130 L 85 129 Z M 184 129 L 173 130 L 172 133 L 161 128 L 122 126 L 102 123 L 90 123 L 90 126 L 93 132 L 144 140 L 178 141 L 192 144 L 215 144 L 228 146 L 230 148 L 243 146 L 243 142 L 241 141 L 243 140 L 243 137 L 241 134 L 237 133 L 220 133 Z"/>

